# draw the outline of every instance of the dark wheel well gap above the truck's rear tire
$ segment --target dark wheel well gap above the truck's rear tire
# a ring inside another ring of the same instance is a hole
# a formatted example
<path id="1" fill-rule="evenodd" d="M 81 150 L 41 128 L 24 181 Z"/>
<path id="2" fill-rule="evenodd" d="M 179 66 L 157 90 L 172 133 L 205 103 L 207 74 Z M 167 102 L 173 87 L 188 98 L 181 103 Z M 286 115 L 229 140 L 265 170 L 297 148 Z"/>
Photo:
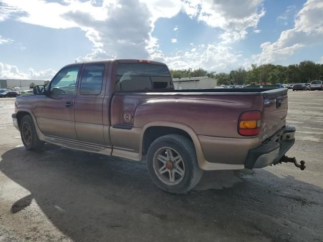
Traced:
<path id="1" fill-rule="evenodd" d="M 150 144 L 157 138 L 170 135 L 170 134 L 178 134 L 185 136 L 186 138 L 192 141 L 191 136 L 184 130 L 172 128 L 172 127 L 164 127 L 164 126 L 153 126 L 149 127 L 145 130 L 143 135 L 143 142 L 142 142 L 142 154 L 145 155 L 148 152 L 148 148 Z"/>

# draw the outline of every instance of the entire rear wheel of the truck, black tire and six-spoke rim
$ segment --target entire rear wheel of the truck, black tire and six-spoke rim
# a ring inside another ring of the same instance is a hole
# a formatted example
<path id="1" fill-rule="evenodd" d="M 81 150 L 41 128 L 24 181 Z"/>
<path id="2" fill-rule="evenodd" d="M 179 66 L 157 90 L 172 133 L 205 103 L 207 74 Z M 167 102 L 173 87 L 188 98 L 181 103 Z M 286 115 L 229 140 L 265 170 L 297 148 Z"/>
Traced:
<path id="1" fill-rule="evenodd" d="M 152 142 L 147 153 L 147 168 L 158 188 L 175 194 L 194 188 L 203 174 L 192 141 L 177 134 L 161 136 Z"/>

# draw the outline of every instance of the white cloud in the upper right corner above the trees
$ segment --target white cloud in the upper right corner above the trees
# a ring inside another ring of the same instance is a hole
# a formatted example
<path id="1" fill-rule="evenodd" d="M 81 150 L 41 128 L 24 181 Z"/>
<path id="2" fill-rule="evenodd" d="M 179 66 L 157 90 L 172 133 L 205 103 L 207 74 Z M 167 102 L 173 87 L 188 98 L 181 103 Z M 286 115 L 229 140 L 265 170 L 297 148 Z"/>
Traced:
<path id="1" fill-rule="evenodd" d="M 275 63 L 279 59 L 293 55 L 304 46 L 321 43 L 323 39 L 323 2 L 308 0 L 298 12 L 294 28 L 281 33 L 276 42 L 264 42 L 262 52 L 253 55 L 258 64 Z"/>

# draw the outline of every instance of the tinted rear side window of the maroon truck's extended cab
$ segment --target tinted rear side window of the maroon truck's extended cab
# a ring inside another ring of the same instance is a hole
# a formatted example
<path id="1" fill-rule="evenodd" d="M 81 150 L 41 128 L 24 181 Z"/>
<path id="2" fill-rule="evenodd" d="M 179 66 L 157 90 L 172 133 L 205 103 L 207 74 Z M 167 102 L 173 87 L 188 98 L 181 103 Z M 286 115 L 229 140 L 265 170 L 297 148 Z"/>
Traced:
<path id="1" fill-rule="evenodd" d="M 98 95 L 101 93 L 104 65 L 88 65 L 83 69 L 80 93 Z"/>

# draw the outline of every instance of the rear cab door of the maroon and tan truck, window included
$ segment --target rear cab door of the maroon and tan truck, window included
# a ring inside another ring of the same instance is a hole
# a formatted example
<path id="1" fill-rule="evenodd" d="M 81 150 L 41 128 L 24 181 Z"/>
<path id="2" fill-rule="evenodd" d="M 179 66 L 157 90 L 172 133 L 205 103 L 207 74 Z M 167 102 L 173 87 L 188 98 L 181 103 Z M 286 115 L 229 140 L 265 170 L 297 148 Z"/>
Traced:
<path id="1" fill-rule="evenodd" d="M 83 65 L 75 98 L 74 115 L 79 141 L 111 148 L 109 126 L 103 126 L 102 117 L 108 67 L 109 63 Z"/>

